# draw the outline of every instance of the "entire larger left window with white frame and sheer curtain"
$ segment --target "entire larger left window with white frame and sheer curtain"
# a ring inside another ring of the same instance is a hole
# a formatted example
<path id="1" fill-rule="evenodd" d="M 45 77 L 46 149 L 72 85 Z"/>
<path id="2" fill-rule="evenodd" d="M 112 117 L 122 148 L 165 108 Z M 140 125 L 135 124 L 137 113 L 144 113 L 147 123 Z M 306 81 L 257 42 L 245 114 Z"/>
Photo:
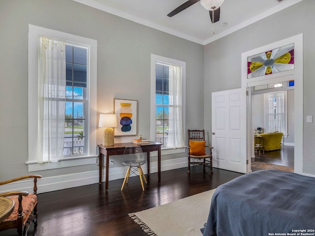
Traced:
<path id="1" fill-rule="evenodd" d="M 96 46 L 29 25 L 29 171 L 95 163 Z"/>

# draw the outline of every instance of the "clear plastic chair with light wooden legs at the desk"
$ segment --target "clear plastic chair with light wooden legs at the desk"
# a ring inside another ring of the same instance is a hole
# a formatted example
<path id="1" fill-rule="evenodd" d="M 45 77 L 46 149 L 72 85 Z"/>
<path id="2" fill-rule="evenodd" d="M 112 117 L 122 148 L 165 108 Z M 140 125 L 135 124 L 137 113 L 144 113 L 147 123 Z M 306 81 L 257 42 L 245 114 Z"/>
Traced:
<path id="1" fill-rule="evenodd" d="M 128 183 L 128 178 L 131 174 L 136 174 L 136 171 L 139 173 L 140 181 L 142 190 L 144 191 L 144 185 L 142 177 L 147 183 L 147 179 L 144 176 L 143 170 L 141 168 L 141 165 L 145 164 L 146 160 L 144 159 L 143 151 L 140 146 L 127 146 L 124 150 L 124 157 L 123 157 L 123 164 L 128 167 L 126 177 L 124 179 L 124 183 L 122 186 L 122 191 L 124 189 L 125 183 Z"/>

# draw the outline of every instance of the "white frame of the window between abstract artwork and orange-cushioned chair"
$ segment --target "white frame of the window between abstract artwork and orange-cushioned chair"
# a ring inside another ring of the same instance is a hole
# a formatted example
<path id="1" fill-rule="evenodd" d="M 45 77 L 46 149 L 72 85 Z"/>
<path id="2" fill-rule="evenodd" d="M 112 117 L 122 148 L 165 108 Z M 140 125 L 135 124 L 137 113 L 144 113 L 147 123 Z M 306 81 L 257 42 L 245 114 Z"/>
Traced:
<path id="1" fill-rule="evenodd" d="M 151 106 L 150 106 L 150 139 L 156 140 L 156 63 L 172 64 L 182 67 L 182 113 L 183 113 L 183 130 L 184 138 L 186 139 L 186 62 L 176 59 L 161 57 L 151 54 Z M 186 148 L 162 148 L 161 154 L 174 154 L 186 152 Z"/>

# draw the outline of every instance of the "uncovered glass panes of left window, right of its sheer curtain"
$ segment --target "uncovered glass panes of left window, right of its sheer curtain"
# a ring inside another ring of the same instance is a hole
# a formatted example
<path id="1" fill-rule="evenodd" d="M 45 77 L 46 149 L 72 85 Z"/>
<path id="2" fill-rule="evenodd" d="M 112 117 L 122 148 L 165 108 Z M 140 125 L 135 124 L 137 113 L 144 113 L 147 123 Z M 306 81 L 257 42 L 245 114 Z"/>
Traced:
<path id="1" fill-rule="evenodd" d="M 86 149 L 88 48 L 65 44 L 66 102 L 63 155 L 84 154 Z"/>

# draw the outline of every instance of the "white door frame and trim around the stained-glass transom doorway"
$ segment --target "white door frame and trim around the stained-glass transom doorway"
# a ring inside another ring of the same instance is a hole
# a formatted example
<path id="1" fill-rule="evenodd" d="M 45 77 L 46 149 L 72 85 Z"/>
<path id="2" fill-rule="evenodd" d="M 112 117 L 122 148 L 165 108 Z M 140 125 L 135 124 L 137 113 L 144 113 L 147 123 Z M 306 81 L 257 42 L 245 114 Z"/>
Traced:
<path id="1" fill-rule="evenodd" d="M 294 43 L 294 69 L 269 75 L 248 77 L 248 58 L 262 52 Z M 251 172 L 254 155 L 252 135 L 252 94 L 251 87 L 278 83 L 279 80 L 294 80 L 294 173 L 303 174 L 303 34 L 298 34 L 260 48 L 242 53 L 242 88 L 248 89 L 247 96 L 247 172 Z"/>

